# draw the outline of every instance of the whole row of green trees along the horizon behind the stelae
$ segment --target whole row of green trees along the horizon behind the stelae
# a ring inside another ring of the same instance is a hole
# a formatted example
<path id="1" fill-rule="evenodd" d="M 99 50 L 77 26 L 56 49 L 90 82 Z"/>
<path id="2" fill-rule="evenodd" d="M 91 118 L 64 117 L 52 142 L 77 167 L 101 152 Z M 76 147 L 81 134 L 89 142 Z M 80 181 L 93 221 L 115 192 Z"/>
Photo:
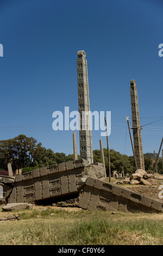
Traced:
<path id="1" fill-rule="evenodd" d="M 104 158 L 106 172 L 109 170 L 108 150 L 104 149 Z M 23 172 L 51 166 L 61 162 L 73 160 L 73 154 L 68 156 L 65 153 L 54 153 L 52 149 L 42 147 L 41 143 L 37 143 L 33 137 L 19 135 L 12 139 L 0 141 L 0 170 L 7 170 L 7 164 L 11 163 L 12 170 L 22 169 Z M 146 153 L 144 155 L 145 169 L 153 170 L 154 161 L 153 154 Z M 93 161 L 101 162 L 101 152 L 93 150 Z M 119 152 L 110 150 L 110 168 L 111 172 L 116 170 L 119 173 L 131 174 L 135 172 L 135 162 L 133 156 L 122 155 Z M 162 173 L 162 160 L 158 162 L 158 172 Z M 0 173 L 1 174 L 1 173 Z"/>

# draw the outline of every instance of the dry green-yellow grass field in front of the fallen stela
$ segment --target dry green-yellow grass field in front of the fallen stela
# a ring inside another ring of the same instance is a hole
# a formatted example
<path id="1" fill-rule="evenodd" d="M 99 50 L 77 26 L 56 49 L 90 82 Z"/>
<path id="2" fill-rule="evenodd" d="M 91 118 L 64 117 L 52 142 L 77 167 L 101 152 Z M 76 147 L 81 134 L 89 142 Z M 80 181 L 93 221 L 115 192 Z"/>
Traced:
<path id="1" fill-rule="evenodd" d="M 163 214 L 86 211 L 33 206 L 3 212 L 18 221 L 0 221 L 0 245 L 163 245 Z"/>

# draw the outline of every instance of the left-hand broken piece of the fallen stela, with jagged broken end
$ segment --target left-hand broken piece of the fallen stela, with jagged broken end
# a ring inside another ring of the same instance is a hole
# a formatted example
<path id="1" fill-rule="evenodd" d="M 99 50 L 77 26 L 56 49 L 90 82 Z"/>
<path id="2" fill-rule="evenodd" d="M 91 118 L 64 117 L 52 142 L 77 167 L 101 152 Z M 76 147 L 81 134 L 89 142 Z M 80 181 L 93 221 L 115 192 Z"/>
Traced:
<path id="1" fill-rule="evenodd" d="M 89 175 L 103 178 L 103 164 L 89 164 L 80 159 L 37 168 L 14 178 L 1 175 L 0 182 L 4 192 L 2 200 L 7 203 L 36 203 L 72 194 L 78 197 L 79 189 Z"/>

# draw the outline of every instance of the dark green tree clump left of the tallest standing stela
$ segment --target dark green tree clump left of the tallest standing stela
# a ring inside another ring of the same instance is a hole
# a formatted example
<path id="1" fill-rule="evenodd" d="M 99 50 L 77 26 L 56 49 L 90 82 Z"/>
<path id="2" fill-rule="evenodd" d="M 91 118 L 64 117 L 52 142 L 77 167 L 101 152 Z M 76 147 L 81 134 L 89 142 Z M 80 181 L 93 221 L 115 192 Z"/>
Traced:
<path id="1" fill-rule="evenodd" d="M 11 163 L 12 170 L 30 170 L 70 160 L 73 160 L 73 155 L 54 153 L 42 147 L 33 137 L 19 135 L 0 141 L 0 170 L 7 170 L 8 163 Z"/>

